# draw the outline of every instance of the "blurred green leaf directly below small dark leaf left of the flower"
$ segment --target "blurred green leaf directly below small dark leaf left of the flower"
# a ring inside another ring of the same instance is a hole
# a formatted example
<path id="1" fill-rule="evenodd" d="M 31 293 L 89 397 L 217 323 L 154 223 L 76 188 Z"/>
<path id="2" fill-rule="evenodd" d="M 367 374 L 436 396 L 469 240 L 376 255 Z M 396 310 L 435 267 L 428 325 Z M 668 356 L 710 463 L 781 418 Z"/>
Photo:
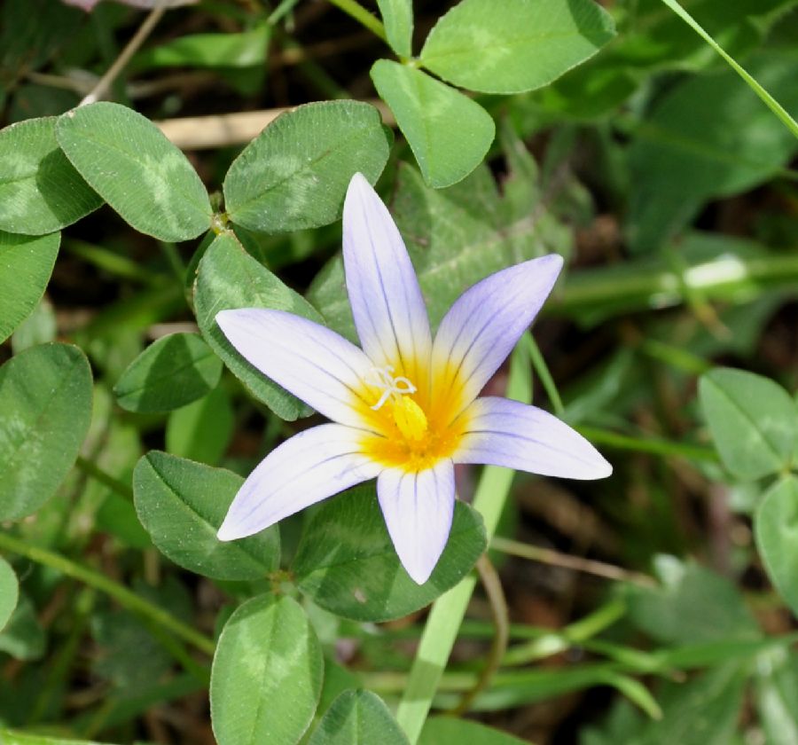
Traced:
<path id="1" fill-rule="evenodd" d="M 214 388 L 199 401 L 169 415 L 167 450 L 215 466 L 230 444 L 234 427 L 230 396 L 224 388 Z"/>

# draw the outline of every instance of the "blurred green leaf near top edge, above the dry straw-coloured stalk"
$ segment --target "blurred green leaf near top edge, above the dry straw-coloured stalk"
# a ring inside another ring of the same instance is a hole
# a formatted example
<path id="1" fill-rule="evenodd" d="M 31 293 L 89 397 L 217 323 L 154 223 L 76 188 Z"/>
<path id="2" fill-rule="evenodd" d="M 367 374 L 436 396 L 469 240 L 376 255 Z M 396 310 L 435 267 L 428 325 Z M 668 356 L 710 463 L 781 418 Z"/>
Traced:
<path id="1" fill-rule="evenodd" d="M 133 67 L 254 67 L 264 65 L 271 27 L 240 34 L 189 34 L 139 52 Z"/>

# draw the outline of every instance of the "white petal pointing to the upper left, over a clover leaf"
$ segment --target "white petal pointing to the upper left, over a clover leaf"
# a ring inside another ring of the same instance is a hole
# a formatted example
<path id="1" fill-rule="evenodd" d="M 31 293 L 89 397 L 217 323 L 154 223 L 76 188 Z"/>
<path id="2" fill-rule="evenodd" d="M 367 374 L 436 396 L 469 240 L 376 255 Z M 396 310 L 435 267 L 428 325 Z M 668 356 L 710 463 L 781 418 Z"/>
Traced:
<path id="1" fill-rule="evenodd" d="M 247 362 L 317 412 L 351 427 L 365 426 L 354 406 L 372 362 L 354 344 L 283 310 L 222 310 L 216 323 Z"/>

